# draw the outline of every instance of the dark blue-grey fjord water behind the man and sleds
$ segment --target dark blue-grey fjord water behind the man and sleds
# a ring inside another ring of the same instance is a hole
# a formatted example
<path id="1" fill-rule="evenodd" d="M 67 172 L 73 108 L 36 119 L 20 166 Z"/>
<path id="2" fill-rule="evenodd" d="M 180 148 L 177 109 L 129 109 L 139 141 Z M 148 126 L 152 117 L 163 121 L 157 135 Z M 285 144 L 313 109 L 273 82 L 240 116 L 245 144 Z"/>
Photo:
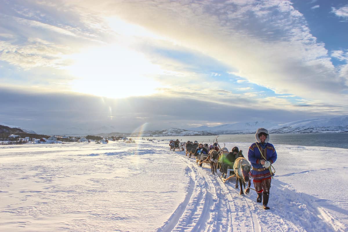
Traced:
<path id="1" fill-rule="evenodd" d="M 170 137 L 153 137 L 154 139 L 179 139 L 182 142 L 188 140 L 199 143 L 213 143 L 216 136 L 170 136 Z M 152 137 L 146 137 L 152 138 Z M 246 135 L 220 135 L 219 143 L 227 142 L 255 142 L 255 134 Z M 338 147 L 348 149 L 348 133 L 306 133 L 306 134 L 270 134 L 270 143 L 273 145 L 285 144 L 296 146 L 321 146 L 321 147 Z"/>

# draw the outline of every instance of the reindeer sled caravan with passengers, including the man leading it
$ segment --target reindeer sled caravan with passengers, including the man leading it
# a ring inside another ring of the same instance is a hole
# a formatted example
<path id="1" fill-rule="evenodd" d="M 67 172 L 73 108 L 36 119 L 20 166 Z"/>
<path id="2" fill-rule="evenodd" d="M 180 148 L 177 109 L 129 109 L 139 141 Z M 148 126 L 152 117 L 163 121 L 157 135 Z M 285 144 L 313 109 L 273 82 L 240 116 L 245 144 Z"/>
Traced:
<path id="1" fill-rule="evenodd" d="M 219 137 L 219 136 L 217 136 Z M 220 167 L 221 180 L 226 183 L 230 178 L 236 177 L 236 189 L 240 185 L 239 195 L 248 194 L 251 186 L 251 178 L 258 197 L 256 202 L 262 202 L 263 209 L 268 207 L 269 190 L 271 187 L 271 179 L 274 176 L 275 169 L 272 164 L 277 160 L 277 152 L 269 141 L 269 133 L 267 129 L 259 128 L 256 131 L 255 143 L 251 144 L 248 150 L 248 159 L 244 158 L 242 150 L 233 147 L 232 152 L 226 149 L 226 144 L 221 148 L 217 143 L 217 137 L 214 139 L 214 145 L 198 144 L 197 141 L 185 144 L 186 156 L 196 157 L 196 163 L 202 166 L 202 163 L 210 163 L 212 174 L 217 173 Z M 178 146 L 179 147 L 179 146 Z M 271 170 L 273 168 L 274 171 Z M 243 191 L 243 187 L 245 191 Z"/>

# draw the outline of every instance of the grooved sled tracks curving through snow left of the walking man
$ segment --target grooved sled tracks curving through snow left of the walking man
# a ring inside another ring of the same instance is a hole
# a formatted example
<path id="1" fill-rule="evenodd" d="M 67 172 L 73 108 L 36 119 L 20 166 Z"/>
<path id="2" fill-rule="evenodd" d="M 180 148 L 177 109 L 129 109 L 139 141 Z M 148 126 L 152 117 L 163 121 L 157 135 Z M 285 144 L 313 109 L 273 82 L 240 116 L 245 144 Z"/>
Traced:
<path id="1" fill-rule="evenodd" d="M 168 154 L 176 155 L 187 164 L 185 172 L 190 179 L 190 187 L 185 200 L 168 221 L 157 229 L 158 232 L 303 231 L 291 221 L 274 215 L 271 210 L 263 210 L 262 205 L 255 202 L 256 196 L 253 199 L 256 194 L 239 195 L 234 181 L 223 183 L 218 175 L 211 174 L 210 167 L 201 168 L 197 166 L 195 159 L 180 153 L 168 151 Z M 274 220 L 267 222 L 270 214 Z"/>

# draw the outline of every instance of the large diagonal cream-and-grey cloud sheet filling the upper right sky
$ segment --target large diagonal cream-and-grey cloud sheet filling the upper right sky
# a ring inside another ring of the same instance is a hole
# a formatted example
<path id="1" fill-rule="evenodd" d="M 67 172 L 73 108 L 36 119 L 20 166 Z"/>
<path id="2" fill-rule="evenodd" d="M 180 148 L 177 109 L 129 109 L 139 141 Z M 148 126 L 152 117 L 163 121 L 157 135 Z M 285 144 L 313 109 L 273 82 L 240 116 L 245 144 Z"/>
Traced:
<path id="1" fill-rule="evenodd" d="M 176 2 L 156 8 L 142 3 L 143 8 L 140 11 L 137 7 L 131 7 L 134 4 L 126 4 L 118 9 L 122 18 L 141 24 L 158 34 L 169 36 L 182 46 L 203 51 L 222 63 L 231 64 L 231 67 L 239 70 L 238 73 L 243 78 L 271 88 L 276 93 L 317 98 L 326 94 L 334 96 L 337 89 L 342 89 L 336 80 L 330 81 L 329 77 L 337 76 L 337 73 L 325 45 L 316 42 L 302 14 L 288 1 L 258 4 L 250 2 L 239 5 L 222 2 L 220 5 L 211 6 L 209 10 L 204 8 L 204 4 L 181 5 Z M 218 10 L 219 18 L 214 14 Z M 260 10 L 264 11 L 261 15 Z M 128 14 L 129 12 L 131 13 Z M 155 15 L 155 12 L 156 20 L 160 20 L 161 25 L 153 24 L 153 17 L 148 17 Z M 162 15 L 159 12 L 166 14 Z M 131 18 L 129 15 L 138 17 Z M 180 24 L 172 24 L 178 15 L 181 18 Z M 241 17 L 242 15 L 248 17 Z M 191 27 L 192 22 L 195 24 L 194 28 Z M 253 30 L 245 27 L 251 23 L 259 26 L 258 22 L 262 22 L 259 30 L 255 27 L 252 27 Z M 171 31 L 164 32 L 164 28 L 168 27 Z M 268 34 L 271 31 L 277 33 Z M 275 41 L 280 36 L 282 40 Z M 268 79 L 266 85 L 263 77 Z M 306 90 L 313 88 L 308 81 L 313 78 L 317 80 L 316 90 L 323 92 L 323 95 L 315 96 Z M 332 88 L 327 88 L 328 84 Z M 322 98 L 324 99 L 327 100 L 326 97 Z M 332 98 L 334 99 L 341 99 L 341 96 Z"/>

